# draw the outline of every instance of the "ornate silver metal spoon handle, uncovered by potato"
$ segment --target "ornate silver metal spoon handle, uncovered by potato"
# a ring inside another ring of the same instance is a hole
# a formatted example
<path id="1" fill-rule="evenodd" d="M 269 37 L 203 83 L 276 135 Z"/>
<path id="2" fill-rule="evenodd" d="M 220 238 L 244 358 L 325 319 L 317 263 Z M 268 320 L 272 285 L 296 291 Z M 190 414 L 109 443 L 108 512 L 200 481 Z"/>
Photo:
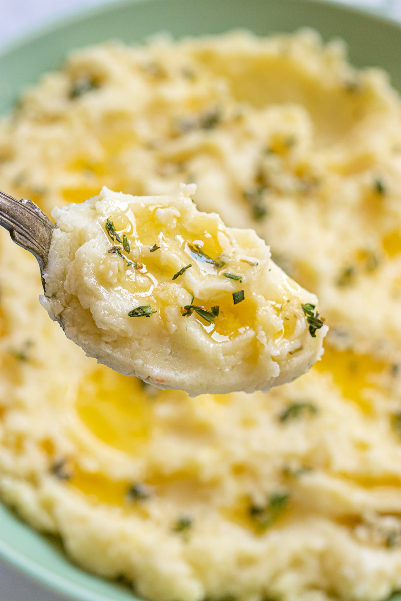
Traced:
<path id="1" fill-rule="evenodd" d="M 44 290 L 43 271 L 47 265 L 52 231 L 56 226 L 28 198 L 16 200 L 1 191 L 0 225 L 10 233 L 13 242 L 34 255 L 39 264 Z"/>

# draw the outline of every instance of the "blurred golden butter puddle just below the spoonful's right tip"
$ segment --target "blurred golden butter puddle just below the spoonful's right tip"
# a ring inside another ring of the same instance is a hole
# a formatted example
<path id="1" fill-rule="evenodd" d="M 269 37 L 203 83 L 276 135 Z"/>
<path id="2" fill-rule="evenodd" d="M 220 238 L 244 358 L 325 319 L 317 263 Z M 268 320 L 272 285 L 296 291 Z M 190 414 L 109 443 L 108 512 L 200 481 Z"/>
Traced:
<path id="1" fill-rule="evenodd" d="M 372 413 L 373 403 L 367 390 L 377 386 L 374 383 L 375 376 L 386 367 L 384 362 L 370 355 L 357 355 L 352 350 L 326 346 L 322 361 L 318 361 L 312 369 L 329 371 L 345 398 L 357 403 L 364 412 Z"/>

